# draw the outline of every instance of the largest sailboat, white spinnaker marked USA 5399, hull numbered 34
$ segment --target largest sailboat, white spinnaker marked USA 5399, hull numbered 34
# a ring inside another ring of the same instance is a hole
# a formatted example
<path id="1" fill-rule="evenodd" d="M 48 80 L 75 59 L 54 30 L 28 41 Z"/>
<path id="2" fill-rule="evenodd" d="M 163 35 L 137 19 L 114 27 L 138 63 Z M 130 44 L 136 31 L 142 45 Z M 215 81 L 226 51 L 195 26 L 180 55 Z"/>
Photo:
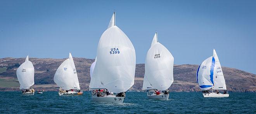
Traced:
<path id="1" fill-rule="evenodd" d="M 115 24 L 115 12 L 97 47 L 97 61 L 92 72 L 89 90 L 92 101 L 118 102 L 134 84 L 135 49 L 130 39 Z"/>

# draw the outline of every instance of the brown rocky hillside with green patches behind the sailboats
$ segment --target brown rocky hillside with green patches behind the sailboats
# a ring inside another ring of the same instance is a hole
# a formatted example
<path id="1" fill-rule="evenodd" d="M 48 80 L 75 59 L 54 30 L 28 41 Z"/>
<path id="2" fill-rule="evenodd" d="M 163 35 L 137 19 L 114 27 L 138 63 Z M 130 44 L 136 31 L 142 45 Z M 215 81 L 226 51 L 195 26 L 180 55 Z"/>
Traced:
<path id="1" fill-rule="evenodd" d="M 90 65 L 94 59 L 74 57 L 80 87 L 85 90 L 90 83 Z M 65 59 L 38 59 L 29 58 L 35 67 L 35 89 L 56 90 L 54 74 L 59 65 Z M 7 67 L 7 71 L 0 73 L 0 79 L 17 79 L 16 70 L 25 61 L 25 58 L 3 58 L 0 59 L 0 68 Z M 196 82 L 195 74 L 198 65 L 174 65 L 174 82 L 170 87 L 171 91 L 190 92 L 201 91 Z M 232 92 L 256 92 L 256 75 L 239 69 L 222 67 L 228 91 Z M 145 72 L 144 64 L 136 65 L 135 83 L 130 91 L 142 89 Z M 17 82 L 17 80 L 16 80 Z M 8 84 L 8 82 L 7 82 Z M 18 87 L 0 87 L 0 90 L 18 90 Z"/>

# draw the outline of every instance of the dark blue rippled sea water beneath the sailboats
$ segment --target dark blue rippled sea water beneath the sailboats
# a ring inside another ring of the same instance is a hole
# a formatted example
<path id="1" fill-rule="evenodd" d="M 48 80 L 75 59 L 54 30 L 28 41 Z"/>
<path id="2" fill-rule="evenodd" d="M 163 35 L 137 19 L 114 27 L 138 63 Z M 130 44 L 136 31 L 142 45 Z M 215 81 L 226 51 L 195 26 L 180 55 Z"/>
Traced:
<path id="1" fill-rule="evenodd" d="M 256 93 L 204 98 L 201 92 L 171 92 L 168 100 L 147 99 L 146 92 L 127 92 L 124 103 L 92 102 L 90 94 L 59 96 L 44 92 L 22 96 L 0 92 L 0 113 L 256 113 Z"/>

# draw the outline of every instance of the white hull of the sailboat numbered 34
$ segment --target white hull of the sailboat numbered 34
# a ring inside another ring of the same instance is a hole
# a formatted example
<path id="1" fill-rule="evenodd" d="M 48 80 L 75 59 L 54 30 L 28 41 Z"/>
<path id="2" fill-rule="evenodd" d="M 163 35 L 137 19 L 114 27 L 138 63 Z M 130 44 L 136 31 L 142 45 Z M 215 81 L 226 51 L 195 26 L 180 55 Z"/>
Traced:
<path id="1" fill-rule="evenodd" d="M 123 103 L 125 97 L 116 97 L 116 96 L 104 96 L 104 97 L 92 97 L 93 102 L 114 102 L 114 103 Z"/>

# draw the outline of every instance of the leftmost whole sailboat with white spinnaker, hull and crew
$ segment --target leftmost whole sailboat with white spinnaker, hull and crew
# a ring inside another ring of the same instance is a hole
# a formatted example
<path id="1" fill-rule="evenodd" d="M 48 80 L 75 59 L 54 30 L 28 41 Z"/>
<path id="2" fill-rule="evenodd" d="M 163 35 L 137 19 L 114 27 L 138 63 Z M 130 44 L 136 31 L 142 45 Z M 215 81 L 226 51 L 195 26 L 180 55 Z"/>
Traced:
<path id="1" fill-rule="evenodd" d="M 35 84 L 34 82 L 34 66 L 31 61 L 28 60 L 27 55 L 26 60 L 22 63 L 16 71 L 17 78 L 19 80 L 19 89 L 22 90 L 24 95 L 34 95 L 35 90 L 31 86 Z"/>

